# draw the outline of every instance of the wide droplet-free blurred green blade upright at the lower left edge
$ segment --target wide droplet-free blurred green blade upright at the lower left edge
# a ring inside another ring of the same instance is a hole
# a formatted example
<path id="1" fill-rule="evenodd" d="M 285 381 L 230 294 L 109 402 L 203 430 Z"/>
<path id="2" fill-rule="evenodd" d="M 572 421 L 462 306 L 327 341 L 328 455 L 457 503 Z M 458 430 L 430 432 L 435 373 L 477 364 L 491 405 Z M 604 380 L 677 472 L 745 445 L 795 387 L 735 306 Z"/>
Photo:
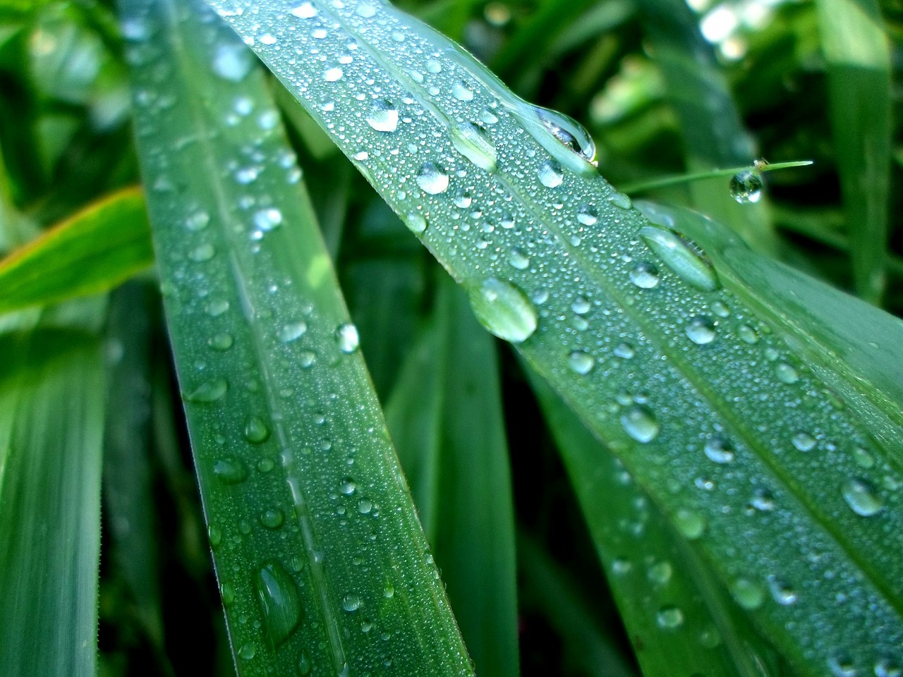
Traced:
<path id="1" fill-rule="evenodd" d="M 100 342 L 81 330 L 0 337 L 0 665 L 97 673 Z"/>

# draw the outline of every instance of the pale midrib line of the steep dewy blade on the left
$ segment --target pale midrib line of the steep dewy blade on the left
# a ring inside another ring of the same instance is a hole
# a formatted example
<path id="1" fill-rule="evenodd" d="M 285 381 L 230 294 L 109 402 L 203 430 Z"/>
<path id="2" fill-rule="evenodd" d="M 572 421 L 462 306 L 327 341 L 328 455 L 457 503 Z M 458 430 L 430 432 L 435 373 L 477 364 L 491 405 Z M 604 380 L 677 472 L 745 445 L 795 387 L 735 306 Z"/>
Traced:
<path id="1" fill-rule="evenodd" d="M 167 20 L 172 27 L 172 30 L 170 31 L 170 35 L 168 37 L 173 47 L 173 53 L 176 55 L 176 58 L 182 65 L 182 69 L 180 69 L 178 72 L 180 74 L 191 72 L 190 61 L 185 56 L 185 47 L 184 42 L 182 41 L 182 33 L 179 30 L 179 23 L 175 15 L 174 7 L 172 6 L 172 0 L 163 0 L 161 2 L 161 5 L 163 6 L 164 12 L 167 15 Z M 209 134 L 203 134 L 206 128 L 206 125 L 203 124 L 205 116 L 203 115 L 203 112 L 201 110 L 198 97 L 189 97 L 188 107 L 191 111 L 192 123 L 198 130 L 199 144 L 204 149 L 203 156 L 204 162 L 207 165 L 208 176 L 218 177 L 219 170 L 213 163 L 213 158 L 216 157 L 215 146 L 211 143 Z M 246 277 L 242 274 L 241 264 L 238 262 L 234 249 L 231 246 L 233 243 L 228 228 L 228 224 L 232 223 L 233 221 L 231 210 L 228 208 L 228 199 L 225 192 L 223 191 L 222 182 L 216 179 L 210 181 L 209 185 L 213 190 L 216 209 L 219 212 L 220 218 L 217 219 L 219 221 L 219 227 L 223 236 L 225 237 L 226 242 L 230 245 L 229 268 L 232 271 L 233 280 L 241 299 L 243 309 L 245 309 L 247 312 L 247 327 L 250 329 L 250 334 L 254 345 L 256 366 L 258 367 L 265 383 L 266 405 L 269 409 L 270 421 L 273 423 L 275 429 L 276 439 L 279 441 L 279 446 L 282 451 L 281 458 L 283 459 L 282 465 L 285 470 L 285 482 L 292 496 L 294 513 L 298 520 L 298 524 L 303 536 L 304 552 L 307 556 L 308 564 L 310 565 L 311 578 L 313 585 L 317 590 L 317 598 L 319 601 L 323 622 L 326 626 L 327 635 L 329 637 L 331 648 L 330 653 L 332 656 L 332 661 L 334 663 L 333 667 L 335 668 L 337 674 L 342 674 L 347 667 L 345 648 L 341 641 L 341 635 L 339 632 L 339 626 L 336 620 L 336 616 L 333 613 L 334 605 L 331 604 L 330 588 L 329 583 L 326 580 L 325 571 L 323 570 L 321 551 L 316 548 L 316 544 L 314 542 L 313 525 L 311 522 L 308 501 L 304 496 L 301 482 L 298 481 L 298 478 L 294 477 L 291 472 L 291 469 L 293 468 L 293 450 L 289 443 L 288 434 L 286 433 L 284 428 L 282 412 L 275 401 L 275 389 L 273 387 L 272 376 L 270 376 L 270 372 L 266 368 L 263 337 L 260 335 L 257 325 L 253 321 L 254 313 L 252 311 L 251 302 L 245 286 Z"/>

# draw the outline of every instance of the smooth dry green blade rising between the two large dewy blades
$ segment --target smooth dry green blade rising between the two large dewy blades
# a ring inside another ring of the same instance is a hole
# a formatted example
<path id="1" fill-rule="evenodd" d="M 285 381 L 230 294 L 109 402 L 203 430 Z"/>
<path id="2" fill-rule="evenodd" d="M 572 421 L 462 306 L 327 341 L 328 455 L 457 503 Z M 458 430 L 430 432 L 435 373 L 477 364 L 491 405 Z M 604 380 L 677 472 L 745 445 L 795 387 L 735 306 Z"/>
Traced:
<path id="1" fill-rule="evenodd" d="M 447 276 L 386 420 L 479 674 L 514 677 L 514 515 L 498 364 Z"/>

